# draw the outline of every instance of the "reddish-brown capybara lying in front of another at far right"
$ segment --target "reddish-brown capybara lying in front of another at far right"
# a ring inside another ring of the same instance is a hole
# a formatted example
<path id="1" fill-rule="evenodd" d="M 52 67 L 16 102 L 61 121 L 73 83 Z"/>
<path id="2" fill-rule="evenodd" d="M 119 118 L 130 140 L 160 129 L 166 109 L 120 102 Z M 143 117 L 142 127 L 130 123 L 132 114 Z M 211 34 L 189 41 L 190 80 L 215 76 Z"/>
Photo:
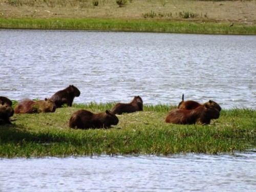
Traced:
<path id="1" fill-rule="evenodd" d="M 166 123 L 174 124 L 210 124 L 211 119 L 218 119 L 220 111 L 208 104 L 198 106 L 193 110 L 174 109 L 165 118 Z"/>

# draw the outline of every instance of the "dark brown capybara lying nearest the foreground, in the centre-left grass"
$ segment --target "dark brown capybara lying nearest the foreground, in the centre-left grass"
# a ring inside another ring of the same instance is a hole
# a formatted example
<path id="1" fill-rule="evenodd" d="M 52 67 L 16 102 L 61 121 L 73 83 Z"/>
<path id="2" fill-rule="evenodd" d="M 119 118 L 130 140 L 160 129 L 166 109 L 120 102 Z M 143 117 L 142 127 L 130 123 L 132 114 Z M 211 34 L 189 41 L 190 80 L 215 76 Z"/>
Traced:
<path id="1" fill-rule="evenodd" d="M 118 122 L 117 116 L 109 110 L 96 114 L 87 110 L 78 110 L 71 115 L 69 126 L 77 129 L 109 128 L 111 125 L 117 125 Z"/>

